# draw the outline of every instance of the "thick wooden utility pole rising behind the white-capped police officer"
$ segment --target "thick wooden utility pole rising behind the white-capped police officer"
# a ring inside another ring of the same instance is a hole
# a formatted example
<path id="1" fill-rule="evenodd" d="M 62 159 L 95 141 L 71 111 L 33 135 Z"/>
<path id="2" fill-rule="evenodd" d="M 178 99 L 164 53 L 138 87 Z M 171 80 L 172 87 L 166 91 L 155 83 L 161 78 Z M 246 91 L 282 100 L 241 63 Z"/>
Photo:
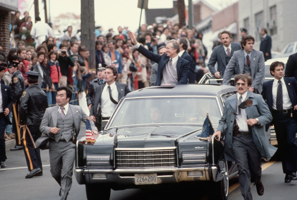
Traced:
<path id="1" fill-rule="evenodd" d="M 89 68 L 96 69 L 95 60 L 95 7 L 94 0 L 80 0 L 81 44 L 90 52 Z"/>

